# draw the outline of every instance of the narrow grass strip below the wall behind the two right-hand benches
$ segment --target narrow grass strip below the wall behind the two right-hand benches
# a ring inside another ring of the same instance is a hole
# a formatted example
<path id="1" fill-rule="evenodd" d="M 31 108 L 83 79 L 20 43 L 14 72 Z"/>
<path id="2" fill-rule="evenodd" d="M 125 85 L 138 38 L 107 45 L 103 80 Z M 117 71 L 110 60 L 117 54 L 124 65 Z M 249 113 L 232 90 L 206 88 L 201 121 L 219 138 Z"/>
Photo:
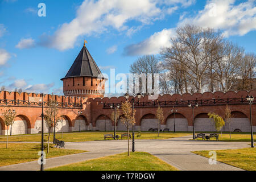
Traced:
<path id="1" fill-rule="evenodd" d="M 197 133 L 196 133 L 197 134 Z M 205 135 L 209 135 L 205 133 Z M 254 135 L 254 141 L 256 141 L 256 135 Z M 198 140 L 202 140 L 199 138 Z M 210 140 L 216 140 L 214 138 Z M 229 134 L 218 134 L 218 140 L 222 142 L 250 142 L 251 141 L 251 134 L 231 134 L 231 139 L 229 138 Z"/>

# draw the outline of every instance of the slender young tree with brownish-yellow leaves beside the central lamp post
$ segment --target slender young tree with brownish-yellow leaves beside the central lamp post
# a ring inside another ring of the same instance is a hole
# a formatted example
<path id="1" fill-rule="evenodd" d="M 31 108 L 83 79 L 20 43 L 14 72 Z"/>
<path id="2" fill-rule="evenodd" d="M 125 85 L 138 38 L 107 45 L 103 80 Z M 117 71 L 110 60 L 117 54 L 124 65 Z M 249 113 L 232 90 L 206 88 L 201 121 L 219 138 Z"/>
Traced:
<path id="1" fill-rule="evenodd" d="M 128 156 L 130 156 L 130 150 L 129 150 L 129 136 L 130 136 L 129 135 L 129 128 L 136 123 L 135 122 L 135 117 L 134 117 L 136 110 L 133 110 L 130 102 L 127 102 L 127 101 L 122 103 L 121 110 L 122 110 L 122 114 L 123 114 L 123 117 L 121 117 L 121 121 L 122 121 L 123 125 L 125 125 L 125 127 L 127 128 Z"/>

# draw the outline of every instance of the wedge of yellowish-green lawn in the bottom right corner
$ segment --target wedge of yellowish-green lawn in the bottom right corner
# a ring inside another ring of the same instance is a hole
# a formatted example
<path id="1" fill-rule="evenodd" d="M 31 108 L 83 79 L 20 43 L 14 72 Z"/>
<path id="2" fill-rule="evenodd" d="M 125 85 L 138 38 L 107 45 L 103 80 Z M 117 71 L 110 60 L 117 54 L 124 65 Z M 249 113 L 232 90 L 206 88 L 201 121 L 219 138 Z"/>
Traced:
<path id="1" fill-rule="evenodd" d="M 256 171 L 256 148 L 217 150 L 217 160 L 247 171 Z M 193 151 L 194 154 L 209 158 L 209 151 Z"/>

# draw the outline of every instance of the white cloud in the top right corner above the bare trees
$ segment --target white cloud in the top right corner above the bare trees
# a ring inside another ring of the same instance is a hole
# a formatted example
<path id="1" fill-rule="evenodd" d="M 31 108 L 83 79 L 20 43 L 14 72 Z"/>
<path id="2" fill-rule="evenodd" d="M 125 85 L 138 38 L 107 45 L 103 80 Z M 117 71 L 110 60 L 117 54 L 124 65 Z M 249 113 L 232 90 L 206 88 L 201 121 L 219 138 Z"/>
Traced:
<path id="1" fill-rule="evenodd" d="M 256 5 L 254 0 L 234 4 L 235 0 L 208 1 L 204 10 L 195 17 L 185 18 L 178 26 L 195 24 L 224 31 L 225 36 L 245 35 L 256 30 Z"/>

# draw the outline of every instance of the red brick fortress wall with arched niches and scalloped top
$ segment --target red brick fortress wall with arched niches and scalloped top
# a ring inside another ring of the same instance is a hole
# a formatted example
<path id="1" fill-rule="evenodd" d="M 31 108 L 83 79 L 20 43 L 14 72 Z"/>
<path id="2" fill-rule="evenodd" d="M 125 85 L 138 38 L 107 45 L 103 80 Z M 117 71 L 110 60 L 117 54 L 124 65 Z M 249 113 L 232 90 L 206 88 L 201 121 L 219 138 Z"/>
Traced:
<path id="1" fill-rule="evenodd" d="M 159 96 L 157 99 L 158 101 L 175 101 L 177 100 L 201 100 L 201 99 L 212 99 L 212 98 L 241 98 L 246 97 L 247 94 L 250 94 L 250 96 L 256 97 L 256 90 L 251 90 L 250 92 L 247 91 L 240 91 L 240 92 L 215 92 L 215 93 L 194 93 L 194 94 L 183 94 L 183 96 L 180 96 L 179 94 L 174 95 L 164 95 Z M 2 91 L 0 92 L 0 99 L 4 100 L 25 100 L 28 101 L 28 97 L 40 97 L 40 94 L 35 93 L 15 93 L 15 92 L 7 92 Z M 51 98 L 51 95 L 47 94 L 44 96 L 44 101 L 48 101 L 48 99 Z M 69 121 L 69 126 L 74 126 L 76 118 L 79 116 L 77 111 L 82 110 L 82 115 L 86 118 L 88 123 L 92 123 L 93 126 L 95 126 L 97 118 L 103 118 L 104 115 L 108 116 L 110 118 L 110 114 L 113 112 L 113 109 L 103 109 L 103 103 L 121 103 L 125 101 L 125 97 L 112 97 L 112 98 L 82 98 L 82 97 L 65 97 L 65 96 L 53 96 L 57 101 L 59 102 L 77 102 L 82 104 L 82 109 L 76 108 L 76 109 L 67 109 L 64 107 L 59 108 L 59 114 L 65 115 L 65 117 Z M 135 98 L 136 101 L 138 98 Z M 130 97 L 131 100 L 131 97 Z M 148 100 L 148 96 L 142 97 L 140 102 L 147 102 L 152 101 Z M 156 99 L 155 99 L 156 101 Z M 245 102 L 247 103 L 247 102 Z M 6 105 L 0 104 L 0 109 L 3 109 L 3 107 Z M 175 118 L 178 117 L 185 117 L 187 118 L 188 125 L 192 126 L 192 109 L 189 109 L 187 106 L 175 106 L 178 110 L 175 114 Z M 225 111 L 226 105 L 212 105 L 212 106 L 199 106 L 197 109 L 195 109 L 195 118 L 200 117 L 202 113 L 209 113 L 210 111 L 217 113 L 219 115 L 223 115 Z M 229 108 L 233 111 L 234 117 L 247 117 L 250 119 L 250 109 L 248 104 L 239 104 L 239 105 L 229 105 Z M 34 128 L 35 121 L 37 118 L 40 117 L 42 113 L 42 109 L 40 107 L 34 107 L 34 106 L 28 106 L 28 105 L 12 105 L 11 109 L 16 110 L 16 115 L 20 115 L 21 117 L 25 118 L 28 123 L 28 128 Z M 141 125 L 141 119 L 144 115 L 145 117 L 148 116 L 148 114 L 156 114 L 157 105 L 155 107 L 136 107 L 136 125 Z M 172 117 L 171 113 L 172 106 L 163 107 L 164 111 L 164 121 L 166 122 L 168 118 Z M 1 110 L 0 110 L 1 112 Z M 242 113 L 242 114 L 241 114 Z M 152 115 L 151 115 L 152 116 Z M 206 115 L 204 115 L 206 117 Z M 252 106 L 252 118 L 253 118 L 253 125 L 256 126 L 256 105 L 254 104 Z M 5 129 L 5 126 L 3 126 L 2 123 L 2 116 L 0 115 L 0 122 L 2 129 Z M 86 123 L 86 125 L 88 125 Z"/>

